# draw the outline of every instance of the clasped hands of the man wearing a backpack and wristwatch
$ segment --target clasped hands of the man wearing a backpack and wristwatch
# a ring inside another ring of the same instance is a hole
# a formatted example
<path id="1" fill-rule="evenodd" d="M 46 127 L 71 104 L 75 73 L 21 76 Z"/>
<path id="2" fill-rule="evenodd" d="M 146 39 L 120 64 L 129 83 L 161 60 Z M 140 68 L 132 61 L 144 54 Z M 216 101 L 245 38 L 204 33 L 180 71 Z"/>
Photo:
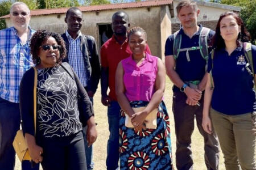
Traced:
<path id="1" fill-rule="evenodd" d="M 199 100 L 202 97 L 202 91 L 198 90 L 197 88 L 187 87 L 185 89 L 185 94 L 187 95 L 186 103 L 188 105 L 199 105 Z"/>

